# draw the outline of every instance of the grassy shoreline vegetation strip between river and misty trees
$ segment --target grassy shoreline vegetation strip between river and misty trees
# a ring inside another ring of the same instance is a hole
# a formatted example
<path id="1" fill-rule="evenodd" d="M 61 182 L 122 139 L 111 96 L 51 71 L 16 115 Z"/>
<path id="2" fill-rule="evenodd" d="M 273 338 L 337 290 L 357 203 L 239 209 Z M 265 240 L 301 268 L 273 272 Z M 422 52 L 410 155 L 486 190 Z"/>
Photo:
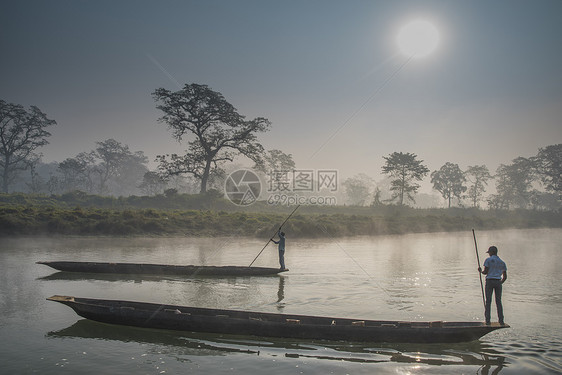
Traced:
<path id="1" fill-rule="evenodd" d="M 0 194 L 0 237 L 253 236 L 269 237 L 294 209 L 256 202 L 238 207 L 219 194 L 102 197 Z M 562 228 L 562 212 L 417 209 L 408 206 L 301 206 L 285 224 L 291 237 L 342 237 Z"/>

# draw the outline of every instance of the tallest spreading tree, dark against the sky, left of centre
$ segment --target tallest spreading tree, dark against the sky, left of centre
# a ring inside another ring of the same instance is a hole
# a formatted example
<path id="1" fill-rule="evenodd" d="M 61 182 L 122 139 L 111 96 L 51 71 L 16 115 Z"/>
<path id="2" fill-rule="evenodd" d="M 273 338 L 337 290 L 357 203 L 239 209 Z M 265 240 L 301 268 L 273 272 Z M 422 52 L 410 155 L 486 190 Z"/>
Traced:
<path id="1" fill-rule="evenodd" d="M 258 163 L 263 147 L 256 134 L 265 132 L 269 120 L 258 117 L 245 120 L 221 93 L 206 85 L 186 84 L 171 92 L 160 88 L 152 94 L 157 109 L 164 115 L 159 119 L 168 125 L 173 137 L 181 142 L 191 137 L 185 155 L 159 155 L 159 169 L 166 175 L 192 174 L 201 181 L 201 193 L 207 191 L 212 173 L 220 170 L 224 161 L 243 155 Z"/>

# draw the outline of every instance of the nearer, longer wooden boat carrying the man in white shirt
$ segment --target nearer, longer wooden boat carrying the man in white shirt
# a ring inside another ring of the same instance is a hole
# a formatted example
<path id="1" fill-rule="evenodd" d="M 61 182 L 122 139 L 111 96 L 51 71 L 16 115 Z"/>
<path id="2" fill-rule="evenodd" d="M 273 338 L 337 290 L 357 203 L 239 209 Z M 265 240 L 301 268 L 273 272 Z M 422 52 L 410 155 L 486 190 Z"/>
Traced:
<path id="1" fill-rule="evenodd" d="M 59 295 L 47 300 L 65 304 L 78 315 L 103 323 L 294 339 L 454 343 L 477 340 L 491 331 L 509 327 L 482 322 L 400 322 L 289 315 Z"/>

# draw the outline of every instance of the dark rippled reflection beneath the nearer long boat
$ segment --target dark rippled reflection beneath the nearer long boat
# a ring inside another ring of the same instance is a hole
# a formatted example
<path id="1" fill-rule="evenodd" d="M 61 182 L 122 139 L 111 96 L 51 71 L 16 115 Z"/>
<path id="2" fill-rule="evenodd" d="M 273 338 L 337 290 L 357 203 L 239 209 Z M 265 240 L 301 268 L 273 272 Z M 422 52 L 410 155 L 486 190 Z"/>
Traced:
<path id="1" fill-rule="evenodd" d="M 272 339 L 116 326 L 87 319 L 79 320 L 68 328 L 49 332 L 46 337 L 152 344 L 156 346 L 149 351 L 159 353 L 163 350 L 162 347 L 165 347 L 166 352 L 175 357 L 224 356 L 230 353 L 242 353 L 359 363 L 399 362 L 439 366 L 478 366 L 476 371 L 482 375 L 498 374 L 506 366 L 504 356 L 480 341 L 462 344 L 369 344 Z"/>

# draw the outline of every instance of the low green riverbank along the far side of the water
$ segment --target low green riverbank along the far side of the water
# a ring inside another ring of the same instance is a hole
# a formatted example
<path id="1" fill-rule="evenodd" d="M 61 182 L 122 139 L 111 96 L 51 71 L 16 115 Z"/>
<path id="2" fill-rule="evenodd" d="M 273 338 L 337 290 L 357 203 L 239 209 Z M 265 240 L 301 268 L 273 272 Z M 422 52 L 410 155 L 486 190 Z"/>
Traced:
<path id="1" fill-rule="evenodd" d="M 290 209 L 290 208 L 289 208 Z M 0 204 L 0 236 L 256 236 L 270 237 L 290 213 L 61 207 Z M 287 211 L 287 212 L 285 212 Z M 301 207 L 285 224 L 291 237 L 341 237 L 509 228 L 561 228 L 550 211 Z"/>

